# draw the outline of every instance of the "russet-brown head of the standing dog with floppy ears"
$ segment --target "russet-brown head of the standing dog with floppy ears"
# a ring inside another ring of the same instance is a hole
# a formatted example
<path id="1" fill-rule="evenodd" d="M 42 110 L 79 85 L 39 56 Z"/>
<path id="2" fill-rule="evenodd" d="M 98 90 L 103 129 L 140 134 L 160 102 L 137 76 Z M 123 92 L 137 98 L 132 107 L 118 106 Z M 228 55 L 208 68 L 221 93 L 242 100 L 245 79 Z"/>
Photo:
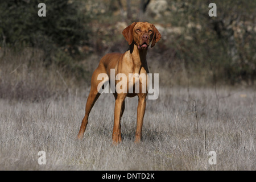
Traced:
<path id="1" fill-rule="evenodd" d="M 134 22 L 126 27 L 122 34 L 129 45 L 134 42 L 138 49 L 147 49 L 150 42 L 151 47 L 154 47 L 162 37 L 154 24 L 147 22 Z"/>

